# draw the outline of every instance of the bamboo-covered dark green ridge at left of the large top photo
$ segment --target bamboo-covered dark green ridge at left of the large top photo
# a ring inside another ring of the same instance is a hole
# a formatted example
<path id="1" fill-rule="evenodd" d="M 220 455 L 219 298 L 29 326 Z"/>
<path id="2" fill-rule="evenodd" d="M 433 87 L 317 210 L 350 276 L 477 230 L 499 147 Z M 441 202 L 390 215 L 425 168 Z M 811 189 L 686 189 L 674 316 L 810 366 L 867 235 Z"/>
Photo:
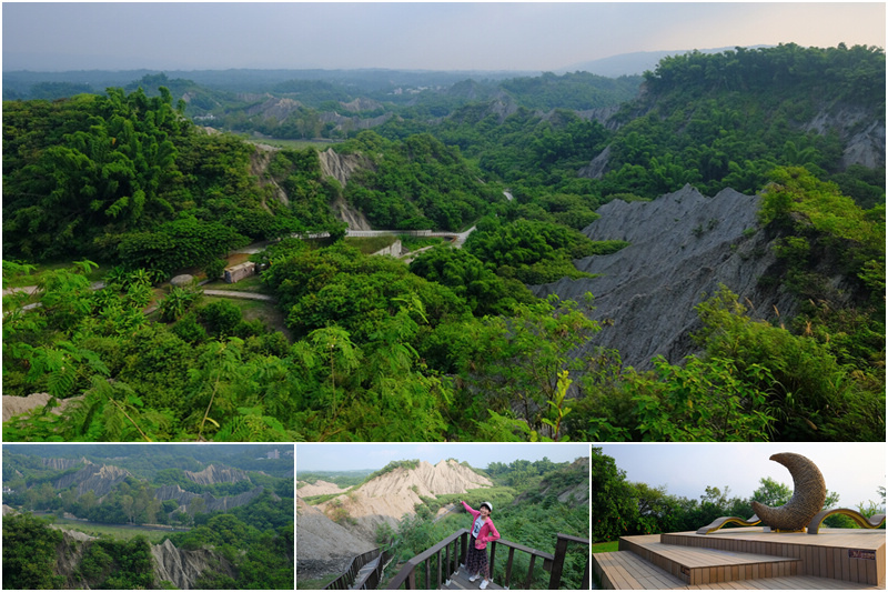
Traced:
<path id="1" fill-rule="evenodd" d="M 329 212 L 287 208 L 261 188 L 250 177 L 253 152 L 199 132 L 165 88 L 154 98 L 109 89 L 7 102 L 4 247 L 31 260 L 98 257 L 169 272 L 251 239 L 330 224 Z M 320 182 L 316 162 L 314 172 Z M 293 188 L 297 204 L 302 189 Z"/>

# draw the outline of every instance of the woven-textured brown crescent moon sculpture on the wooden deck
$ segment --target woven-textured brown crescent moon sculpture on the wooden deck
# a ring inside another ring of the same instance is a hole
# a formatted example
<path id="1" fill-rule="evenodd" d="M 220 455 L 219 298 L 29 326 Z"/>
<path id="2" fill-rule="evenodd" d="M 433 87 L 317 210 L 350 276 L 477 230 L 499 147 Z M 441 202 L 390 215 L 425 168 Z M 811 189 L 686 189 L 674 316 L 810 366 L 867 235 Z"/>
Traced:
<path id="1" fill-rule="evenodd" d="M 779 508 L 753 502 L 753 510 L 761 522 L 775 530 L 799 531 L 823 510 L 826 500 L 826 483 L 817 465 L 801 454 L 780 452 L 770 460 L 779 462 L 793 475 L 793 499 Z"/>

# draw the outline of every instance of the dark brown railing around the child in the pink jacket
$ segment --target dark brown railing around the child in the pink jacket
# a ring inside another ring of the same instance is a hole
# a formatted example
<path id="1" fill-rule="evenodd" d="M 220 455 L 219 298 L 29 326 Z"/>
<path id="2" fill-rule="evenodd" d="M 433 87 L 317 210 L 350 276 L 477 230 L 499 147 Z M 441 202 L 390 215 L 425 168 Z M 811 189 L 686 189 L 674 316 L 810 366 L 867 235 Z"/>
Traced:
<path id="1" fill-rule="evenodd" d="M 537 560 L 542 560 L 542 568 L 545 571 L 551 572 L 548 589 L 557 590 L 562 581 L 564 558 L 567 553 L 568 543 L 579 543 L 585 544 L 587 548 L 589 546 L 589 541 L 586 539 L 579 539 L 577 536 L 571 536 L 561 533 L 557 534 L 554 555 L 544 551 L 531 549 L 529 546 L 525 546 L 523 544 L 507 541 L 505 539 L 493 541 L 488 544 L 491 550 L 491 573 L 494 573 L 494 566 L 496 565 L 496 551 L 500 546 L 502 546 L 504 549 L 508 549 L 508 558 L 506 559 L 504 582 L 502 585 L 507 588 L 512 584 L 514 575 L 513 568 L 515 566 L 515 551 L 518 551 L 521 553 L 527 553 L 531 556 L 531 563 L 527 568 L 527 574 L 524 576 L 522 588 L 525 590 L 531 588 L 534 575 L 534 566 L 536 565 Z M 406 590 L 416 590 L 417 588 L 423 590 L 433 590 L 441 588 L 441 585 L 450 579 L 451 574 L 453 574 L 460 568 L 460 564 L 465 563 L 467 548 L 468 530 L 461 529 L 436 545 L 423 551 L 415 558 L 407 561 L 401 571 L 397 572 L 397 575 L 395 575 L 392 581 L 389 582 L 389 589 L 395 590 L 404 586 Z M 586 555 L 586 569 L 583 575 L 585 583 L 583 585 L 585 586 L 585 590 L 588 590 L 588 553 Z M 424 582 L 422 582 L 424 584 L 423 586 L 417 585 L 420 583 L 417 582 L 417 571 L 420 572 L 421 576 L 425 576 L 423 579 Z"/>

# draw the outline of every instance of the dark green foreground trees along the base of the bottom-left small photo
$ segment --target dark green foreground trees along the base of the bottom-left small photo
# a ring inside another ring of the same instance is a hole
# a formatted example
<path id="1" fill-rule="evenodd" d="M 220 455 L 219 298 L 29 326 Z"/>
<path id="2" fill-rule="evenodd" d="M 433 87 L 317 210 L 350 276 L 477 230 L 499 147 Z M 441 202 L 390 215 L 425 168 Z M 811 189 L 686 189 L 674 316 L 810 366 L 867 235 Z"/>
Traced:
<path id="1" fill-rule="evenodd" d="M 292 505 L 291 505 L 292 508 Z M 204 550 L 214 569 L 195 586 L 229 590 L 287 590 L 293 578 L 293 518 L 272 526 L 255 515 L 212 516 L 188 533 L 168 536 L 178 549 Z M 74 541 L 30 513 L 3 518 L 3 588 L 9 590 L 144 590 L 172 588 L 154 569 L 144 535 Z M 165 544 L 169 544 L 167 542 Z M 63 555 L 65 561 L 58 561 Z"/>

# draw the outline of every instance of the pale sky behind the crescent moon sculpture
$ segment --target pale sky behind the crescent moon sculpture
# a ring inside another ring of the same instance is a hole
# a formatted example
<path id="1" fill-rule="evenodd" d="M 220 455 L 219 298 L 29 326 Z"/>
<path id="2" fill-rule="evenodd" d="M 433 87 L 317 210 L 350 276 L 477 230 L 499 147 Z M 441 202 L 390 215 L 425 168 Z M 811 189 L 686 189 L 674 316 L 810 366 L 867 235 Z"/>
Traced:
<path id="1" fill-rule="evenodd" d="M 768 460 L 778 452 L 810 459 L 820 469 L 826 489 L 839 494 L 842 508 L 867 500 L 880 503 L 876 489 L 885 485 L 885 443 L 595 445 L 626 471 L 629 481 L 665 485 L 669 493 L 697 500 L 707 485 L 723 490 L 728 485 L 731 496 L 748 498 L 765 476 L 791 489 L 789 471 Z"/>

